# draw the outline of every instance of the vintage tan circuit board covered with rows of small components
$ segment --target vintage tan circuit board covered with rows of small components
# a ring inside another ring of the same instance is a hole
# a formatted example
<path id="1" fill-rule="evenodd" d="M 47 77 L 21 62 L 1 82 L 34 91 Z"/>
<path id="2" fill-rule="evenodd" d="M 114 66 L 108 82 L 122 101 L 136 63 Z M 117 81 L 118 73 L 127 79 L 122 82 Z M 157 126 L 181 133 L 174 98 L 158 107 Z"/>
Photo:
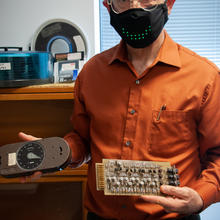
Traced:
<path id="1" fill-rule="evenodd" d="M 105 195 L 163 195 L 164 184 L 180 185 L 178 170 L 169 162 L 103 159 L 96 163 L 97 190 Z"/>

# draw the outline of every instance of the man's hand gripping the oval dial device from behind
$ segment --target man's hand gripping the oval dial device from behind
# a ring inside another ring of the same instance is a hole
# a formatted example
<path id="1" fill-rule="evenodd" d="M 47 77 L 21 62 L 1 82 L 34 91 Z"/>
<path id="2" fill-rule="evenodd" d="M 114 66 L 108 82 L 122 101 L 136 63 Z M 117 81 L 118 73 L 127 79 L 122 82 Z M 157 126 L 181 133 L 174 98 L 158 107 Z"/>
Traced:
<path id="1" fill-rule="evenodd" d="M 34 137 L 32 135 L 28 135 L 25 134 L 23 132 L 19 132 L 18 133 L 18 137 L 22 140 L 22 141 L 35 141 L 35 140 L 39 140 L 40 138 Z M 31 176 L 25 176 L 25 177 L 21 177 L 20 181 L 21 183 L 26 183 L 26 182 L 31 182 L 34 180 L 39 179 L 42 176 L 42 172 L 35 172 L 33 175 Z"/>

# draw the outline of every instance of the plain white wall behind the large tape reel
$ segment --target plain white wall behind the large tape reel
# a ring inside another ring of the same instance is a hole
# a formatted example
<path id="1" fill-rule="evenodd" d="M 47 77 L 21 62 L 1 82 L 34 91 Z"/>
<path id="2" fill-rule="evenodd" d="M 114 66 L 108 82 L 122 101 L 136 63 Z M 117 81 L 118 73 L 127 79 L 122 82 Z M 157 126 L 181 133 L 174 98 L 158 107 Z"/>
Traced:
<path id="1" fill-rule="evenodd" d="M 0 46 L 28 49 L 35 32 L 51 19 L 67 19 L 84 33 L 88 57 L 99 51 L 98 0 L 0 0 Z M 96 31 L 95 31 L 96 30 Z"/>

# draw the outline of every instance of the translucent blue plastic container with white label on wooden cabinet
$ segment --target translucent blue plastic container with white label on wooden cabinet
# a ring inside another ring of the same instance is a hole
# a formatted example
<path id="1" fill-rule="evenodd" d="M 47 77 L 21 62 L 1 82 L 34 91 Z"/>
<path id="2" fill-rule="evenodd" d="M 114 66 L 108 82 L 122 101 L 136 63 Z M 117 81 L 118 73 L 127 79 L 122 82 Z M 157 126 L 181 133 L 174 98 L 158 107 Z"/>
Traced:
<path id="1" fill-rule="evenodd" d="M 49 52 L 0 52 L 0 87 L 21 87 L 53 82 Z"/>

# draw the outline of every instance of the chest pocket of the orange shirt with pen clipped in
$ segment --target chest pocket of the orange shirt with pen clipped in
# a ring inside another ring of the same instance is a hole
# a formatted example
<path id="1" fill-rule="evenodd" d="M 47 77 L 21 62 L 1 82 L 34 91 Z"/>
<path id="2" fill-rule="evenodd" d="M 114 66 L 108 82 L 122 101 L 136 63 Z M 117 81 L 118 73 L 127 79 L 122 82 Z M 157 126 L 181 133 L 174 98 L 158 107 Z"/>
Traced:
<path id="1" fill-rule="evenodd" d="M 186 150 L 192 141 L 190 113 L 164 110 L 152 112 L 149 151 L 159 157 L 174 157 Z"/>

